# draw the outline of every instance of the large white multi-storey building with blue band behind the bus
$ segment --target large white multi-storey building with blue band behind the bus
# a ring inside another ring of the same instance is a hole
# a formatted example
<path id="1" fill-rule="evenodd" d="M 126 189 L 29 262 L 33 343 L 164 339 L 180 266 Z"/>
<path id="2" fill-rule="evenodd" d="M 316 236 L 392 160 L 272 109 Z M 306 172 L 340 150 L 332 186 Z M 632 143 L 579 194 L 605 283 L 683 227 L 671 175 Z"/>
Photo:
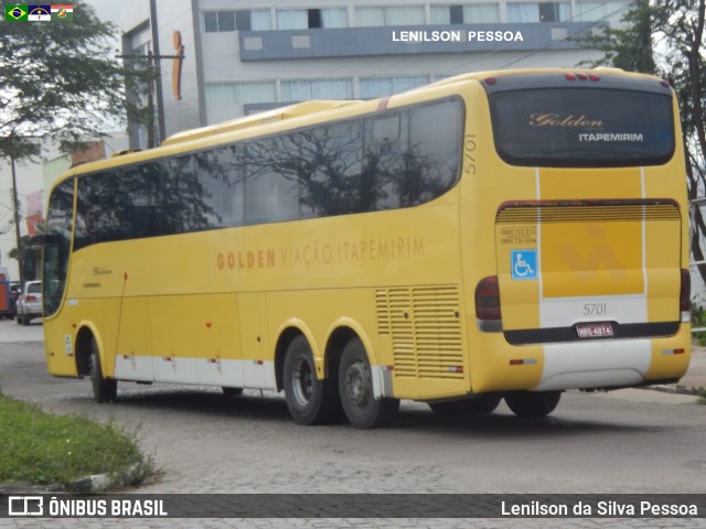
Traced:
<path id="1" fill-rule="evenodd" d="M 630 8 L 628 0 L 132 2 L 120 21 L 124 55 L 151 55 L 161 69 L 149 94 L 152 144 L 302 100 L 382 97 L 467 72 L 576 66 L 601 56 L 580 37 L 620 23 Z M 132 126 L 130 145 L 147 147 L 149 136 Z"/>

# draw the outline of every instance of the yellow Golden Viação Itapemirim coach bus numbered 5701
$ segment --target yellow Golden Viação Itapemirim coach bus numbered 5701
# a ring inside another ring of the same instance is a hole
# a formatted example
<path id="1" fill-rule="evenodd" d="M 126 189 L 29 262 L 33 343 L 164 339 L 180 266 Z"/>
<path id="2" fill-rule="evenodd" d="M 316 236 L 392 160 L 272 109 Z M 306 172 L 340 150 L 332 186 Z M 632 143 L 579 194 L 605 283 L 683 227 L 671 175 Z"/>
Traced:
<path id="1" fill-rule="evenodd" d="M 310 101 L 72 169 L 44 237 L 49 370 L 284 391 L 293 420 L 552 412 L 689 361 L 674 93 L 472 73 Z"/>

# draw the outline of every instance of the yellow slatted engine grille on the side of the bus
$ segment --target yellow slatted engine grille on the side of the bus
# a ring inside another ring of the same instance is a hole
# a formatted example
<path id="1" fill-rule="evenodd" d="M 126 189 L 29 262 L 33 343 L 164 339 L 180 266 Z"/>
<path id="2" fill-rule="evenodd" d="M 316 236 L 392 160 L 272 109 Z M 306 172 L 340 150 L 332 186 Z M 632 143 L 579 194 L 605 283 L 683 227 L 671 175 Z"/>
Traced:
<path id="1" fill-rule="evenodd" d="M 375 299 L 381 337 L 392 339 L 395 377 L 463 378 L 458 287 L 381 289 Z"/>

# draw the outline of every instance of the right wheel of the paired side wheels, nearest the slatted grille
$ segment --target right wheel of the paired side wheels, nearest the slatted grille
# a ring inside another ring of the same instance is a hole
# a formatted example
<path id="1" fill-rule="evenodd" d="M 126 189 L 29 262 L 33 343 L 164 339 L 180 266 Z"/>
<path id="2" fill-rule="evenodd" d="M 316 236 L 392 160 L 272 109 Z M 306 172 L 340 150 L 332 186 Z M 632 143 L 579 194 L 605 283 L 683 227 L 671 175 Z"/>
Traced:
<path id="1" fill-rule="evenodd" d="M 364 430 L 389 424 L 399 409 L 399 399 L 375 399 L 371 363 L 359 338 L 350 339 L 343 347 L 339 395 L 349 422 Z"/>

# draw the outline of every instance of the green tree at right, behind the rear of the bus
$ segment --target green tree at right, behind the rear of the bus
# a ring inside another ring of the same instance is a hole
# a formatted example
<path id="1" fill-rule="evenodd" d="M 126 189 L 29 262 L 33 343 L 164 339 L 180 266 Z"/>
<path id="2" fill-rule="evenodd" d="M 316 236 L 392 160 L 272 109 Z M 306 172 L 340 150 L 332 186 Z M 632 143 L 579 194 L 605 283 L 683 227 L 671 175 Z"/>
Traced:
<path id="1" fill-rule="evenodd" d="M 638 0 L 620 29 L 587 39 L 603 57 L 593 65 L 616 66 L 656 74 L 672 84 L 680 106 L 687 159 L 688 197 L 706 195 L 706 0 Z M 694 260 L 706 260 L 704 208 L 692 215 L 691 248 Z M 706 281 L 706 264 L 698 271 Z"/>

